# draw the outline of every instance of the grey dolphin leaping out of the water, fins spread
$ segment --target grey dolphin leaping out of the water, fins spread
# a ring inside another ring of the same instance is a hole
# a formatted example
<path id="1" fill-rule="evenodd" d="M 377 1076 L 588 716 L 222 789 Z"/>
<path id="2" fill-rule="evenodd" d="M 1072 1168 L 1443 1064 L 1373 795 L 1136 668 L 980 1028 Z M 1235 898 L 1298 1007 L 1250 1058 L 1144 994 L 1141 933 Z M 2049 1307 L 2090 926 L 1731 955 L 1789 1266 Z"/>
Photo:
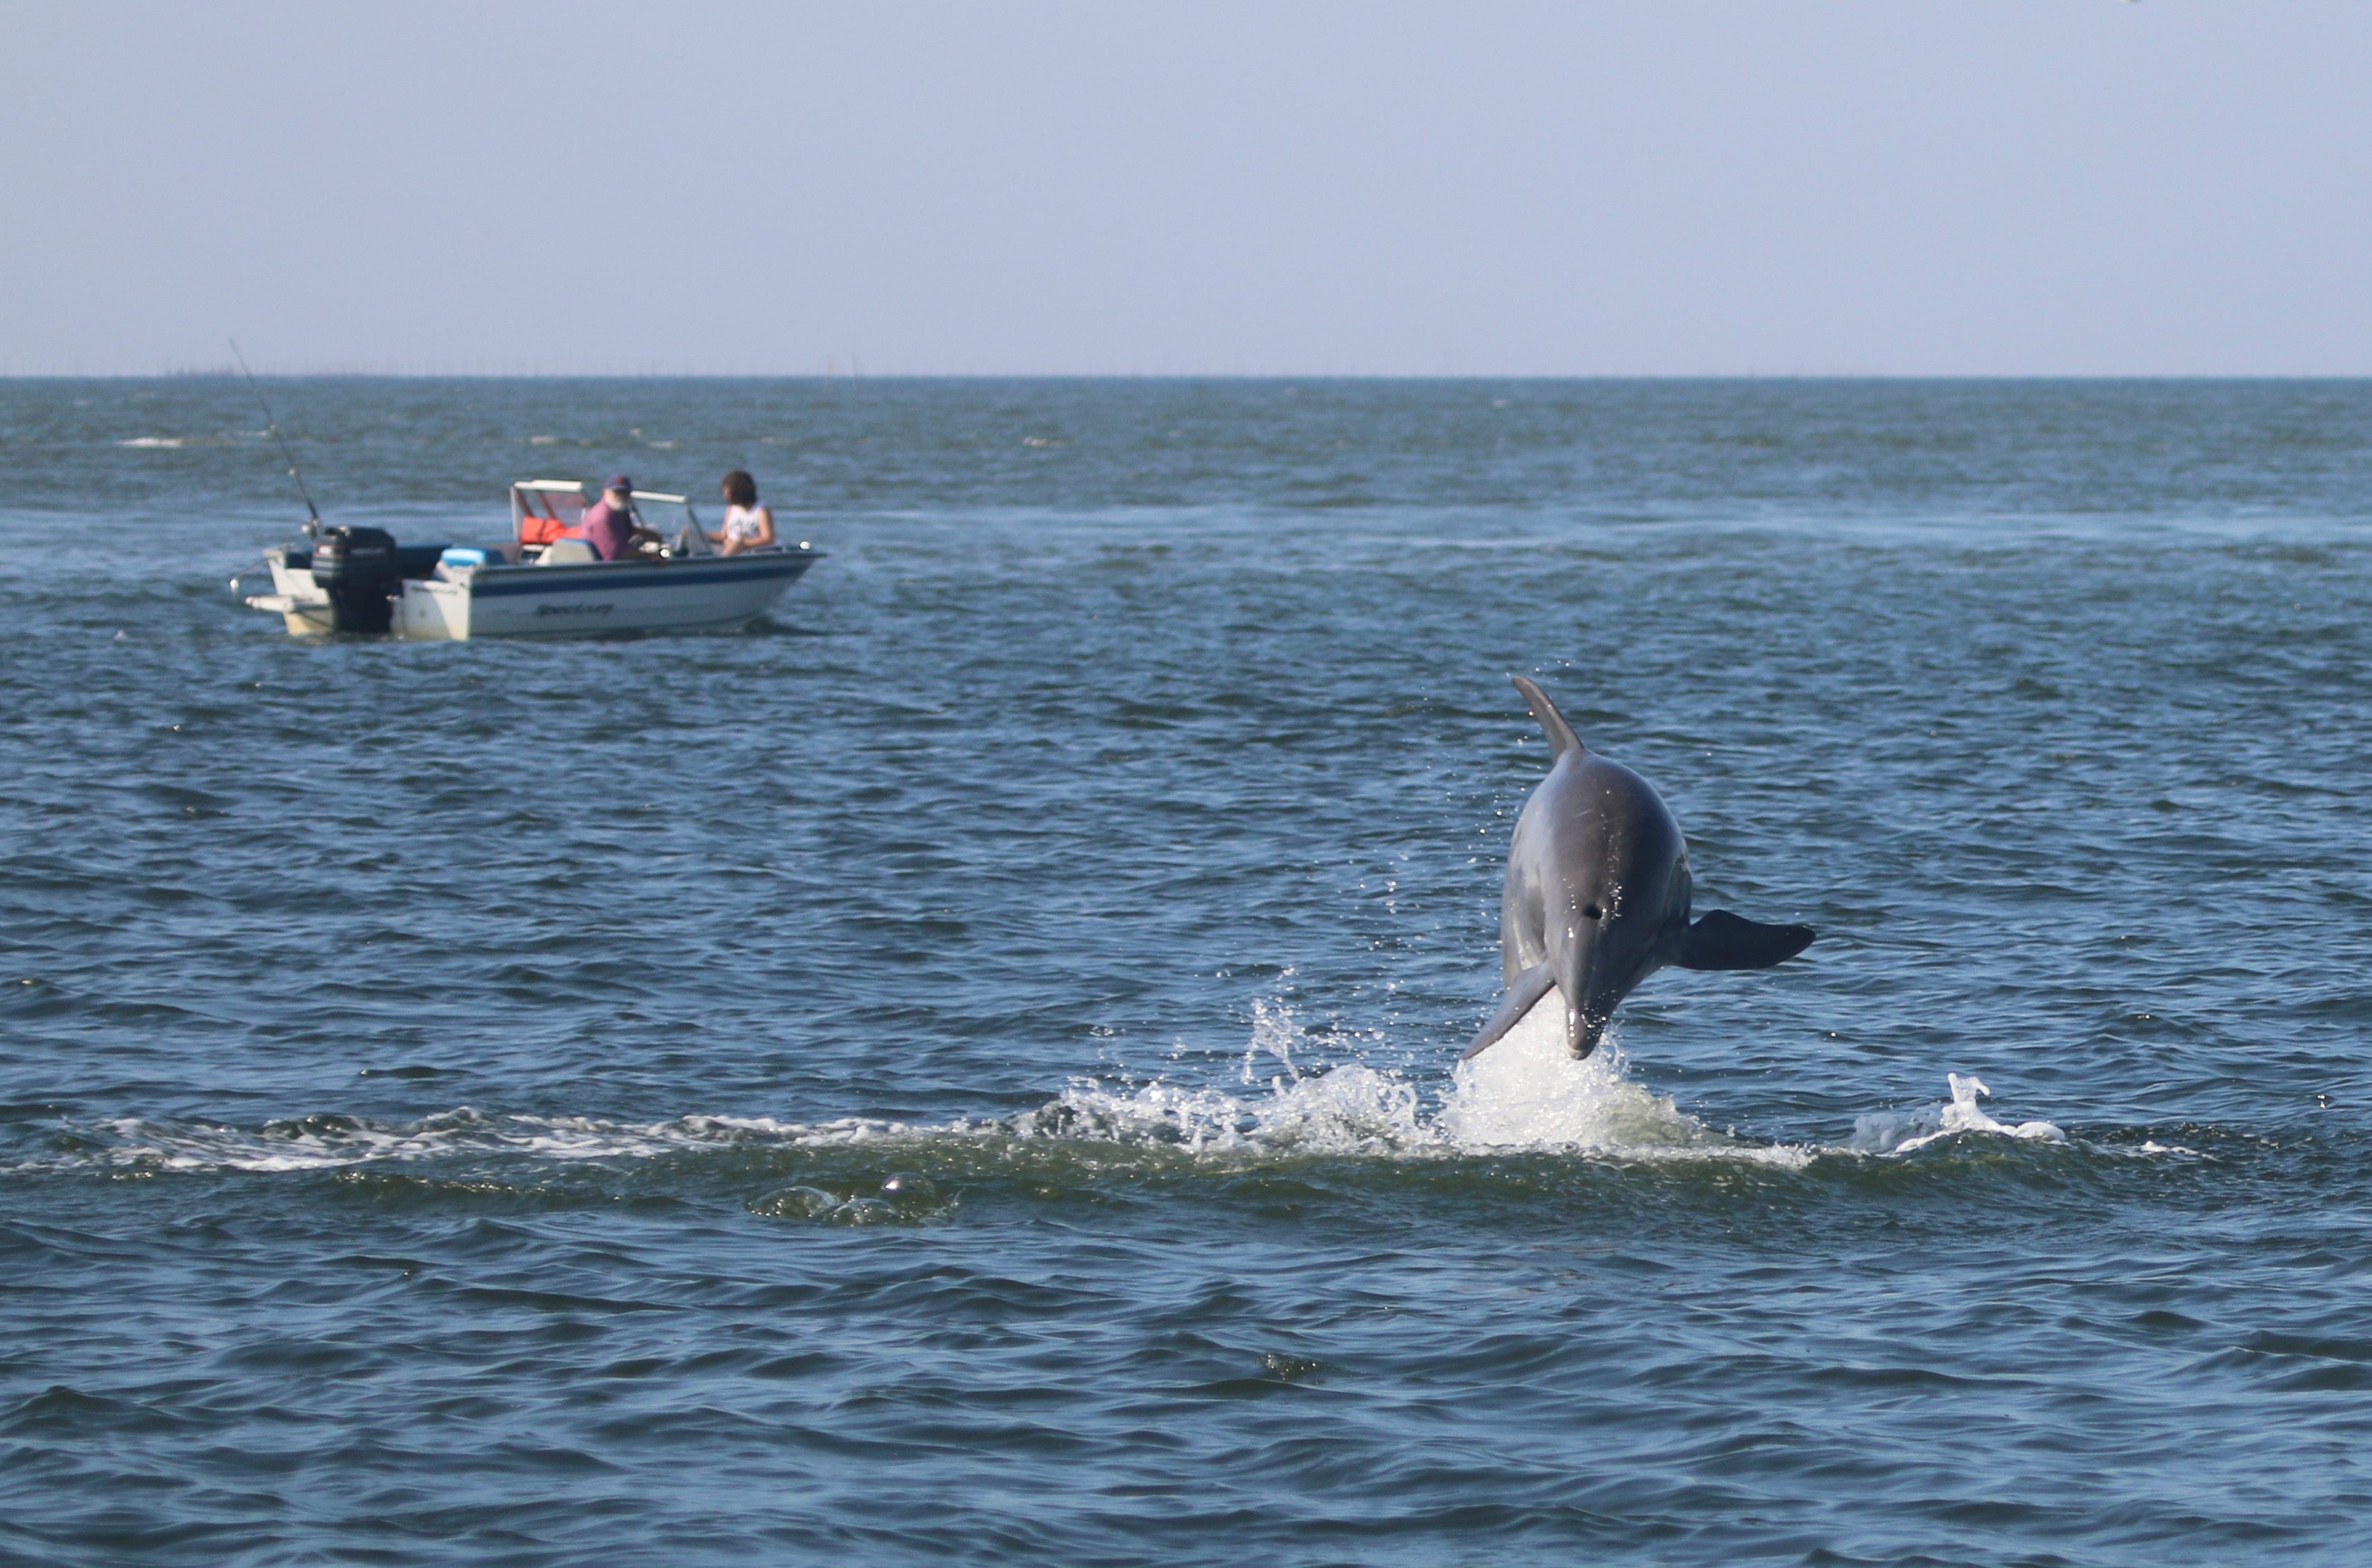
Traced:
<path id="1" fill-rule="evenodd" d="M 1760 925 L 1727 909 L 1691 925 L 1689 847 L 1672 811 L 1644 778 L 1594 757 L 1549 693 L 1513 681 L 1549 733 L 1551 761 L 1506 852 L 1506 996 L 1466 1056 L 1513 1030 L 1549 992 L 1566 999 L 1566 1046 L 1589 1056 L 1615 1003 L 1668 963 L 1767 970 L 1810 946 L 1810 925 Z"/>

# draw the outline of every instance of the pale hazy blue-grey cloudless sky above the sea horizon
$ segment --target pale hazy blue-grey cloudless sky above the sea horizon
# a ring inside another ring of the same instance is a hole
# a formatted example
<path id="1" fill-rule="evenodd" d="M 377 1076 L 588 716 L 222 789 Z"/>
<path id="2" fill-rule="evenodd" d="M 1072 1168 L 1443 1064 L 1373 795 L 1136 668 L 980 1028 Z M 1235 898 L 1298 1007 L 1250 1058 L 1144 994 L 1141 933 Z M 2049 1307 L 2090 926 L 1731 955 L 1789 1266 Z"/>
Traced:
<path id="1" fill-rule="evenodd" d="M 2372 372 L 2365 0 L 0 0 L 0 372 Z"/>

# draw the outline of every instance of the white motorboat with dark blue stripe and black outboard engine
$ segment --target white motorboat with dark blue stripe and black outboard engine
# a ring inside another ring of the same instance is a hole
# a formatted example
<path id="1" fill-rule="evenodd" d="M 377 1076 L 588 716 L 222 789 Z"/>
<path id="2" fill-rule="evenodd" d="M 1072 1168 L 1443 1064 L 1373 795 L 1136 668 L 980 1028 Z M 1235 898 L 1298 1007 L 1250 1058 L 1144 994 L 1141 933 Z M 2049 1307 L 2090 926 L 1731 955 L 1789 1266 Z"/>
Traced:
<path id="1" fill-rule="evenodd" d="M 270 593 L 244 593 L 244 574 L 230 586 L 254 610 L 280 614 L 294 636 L 441 643 L 735 631 L 823 557 L 806 541 L 719 555 L 686 496 L 633 491 L 645 529 L 664 536 L 645 508 L 676 510 L 683 522 L 659 548 L 602 560 L 569 536 L 588 501 L 576 479 L 522 479 L 510 486 L 510 541 L 486 546 L 398 546 L 384 529 L 323 527 L 304 546 L 263 553 Z"/>

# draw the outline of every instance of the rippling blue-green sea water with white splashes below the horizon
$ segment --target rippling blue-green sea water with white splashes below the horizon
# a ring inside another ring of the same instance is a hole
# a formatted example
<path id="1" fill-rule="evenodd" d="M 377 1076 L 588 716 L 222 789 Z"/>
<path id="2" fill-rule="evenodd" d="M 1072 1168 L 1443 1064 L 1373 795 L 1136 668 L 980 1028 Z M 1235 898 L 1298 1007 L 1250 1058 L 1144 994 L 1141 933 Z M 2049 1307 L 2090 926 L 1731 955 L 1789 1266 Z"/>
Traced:
<path id="1" fill-rule="evenodd" d="M 2372 1561 L 2372 384 L 0 382 L 0 1561 Z M 1547 747 L 1698 906 L 1499 989 Z"/>

